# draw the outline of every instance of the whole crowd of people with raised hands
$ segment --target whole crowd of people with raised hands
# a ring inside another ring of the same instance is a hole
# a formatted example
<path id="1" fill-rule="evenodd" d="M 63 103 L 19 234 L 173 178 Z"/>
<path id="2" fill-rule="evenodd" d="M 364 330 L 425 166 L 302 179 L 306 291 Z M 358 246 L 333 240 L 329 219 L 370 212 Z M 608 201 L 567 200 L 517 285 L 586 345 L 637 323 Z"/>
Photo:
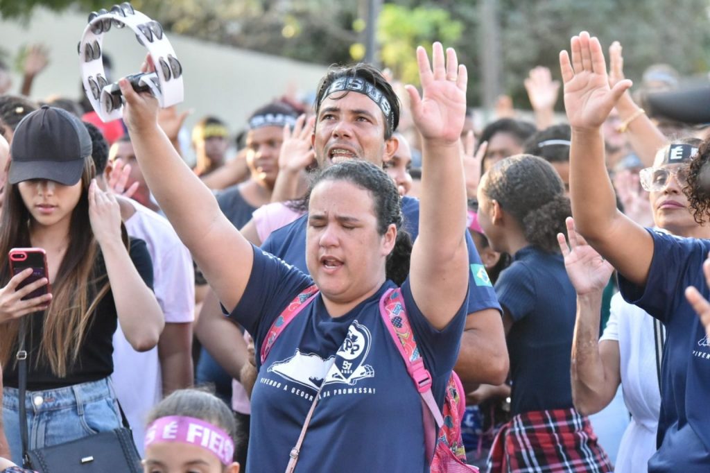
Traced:
<path id="1" fill-rule="evenodd" d="M 31 98 L 44 48 L 0 65 L 0 469 L 127 422 L 145 472 L 710 471 L 709 128 L 643 108 L 677 77 L 582 32 L 480 126 L 430 51 L 204 116 L 192 165 L 127 80 L 104 124 Z"/>

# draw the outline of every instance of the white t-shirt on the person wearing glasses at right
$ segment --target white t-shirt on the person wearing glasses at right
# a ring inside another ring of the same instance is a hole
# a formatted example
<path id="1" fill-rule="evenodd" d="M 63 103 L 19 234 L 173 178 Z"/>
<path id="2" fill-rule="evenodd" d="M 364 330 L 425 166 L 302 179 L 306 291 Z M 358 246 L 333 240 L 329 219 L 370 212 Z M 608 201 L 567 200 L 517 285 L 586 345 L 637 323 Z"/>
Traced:
<path id="1" fill-rule="evenodd" d="M 645 471 L 656 452 L 656 430 L 660 411 L 660 390 L 656 371 L 653 317 L 626 303 L 621 294 L 611 298 L 611 314 L 603 340 L 619 344 L 621 387 L 631 422 L 619 446 L 614 471 Z"/>

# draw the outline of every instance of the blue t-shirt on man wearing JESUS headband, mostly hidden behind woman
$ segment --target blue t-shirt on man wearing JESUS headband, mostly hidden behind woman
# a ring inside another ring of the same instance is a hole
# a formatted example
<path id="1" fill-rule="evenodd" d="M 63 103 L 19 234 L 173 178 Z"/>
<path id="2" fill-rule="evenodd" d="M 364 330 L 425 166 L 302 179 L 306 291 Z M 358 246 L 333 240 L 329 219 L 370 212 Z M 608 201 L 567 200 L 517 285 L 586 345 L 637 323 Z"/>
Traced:
<path id="1" fill-rule="evenodd" d="M 402 197 L 402 213 L 405 218 L 405 230 L 414 241 L 419 234 L 419 200 L 413 197 Z M 290 224 L 272 232 L 261 245 L 261 249 L 283 259 L 283 261 L 299 268 L 304 273 L 308 273 L 306 266 L 307 226 L 308 214 L 305 214 Z M 491 280 L 488 279 L 486 268 L 481 263 L 481 256 L 476 251 L 476 245 L 469 232 L 466 232 L 466 246 L 469 249 L 469 266 L 471 268 L 471 274 L 469 275 L 469 308 L 466 313 L 470 314 L 484 309 L 501 310 L 501 305 L 498 304 Z"/>

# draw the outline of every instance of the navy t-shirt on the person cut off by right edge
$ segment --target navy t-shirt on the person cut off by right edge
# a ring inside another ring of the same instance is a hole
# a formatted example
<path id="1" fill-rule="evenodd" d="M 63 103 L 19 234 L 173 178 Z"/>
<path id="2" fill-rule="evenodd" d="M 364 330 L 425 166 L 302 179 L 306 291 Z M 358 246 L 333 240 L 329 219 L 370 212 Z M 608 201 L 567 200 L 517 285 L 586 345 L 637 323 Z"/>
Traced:
<path id="1" fill-rule="evenodd" d="M 666 327 L 661 373 L 658 451 L 648 471 L 710 472 L 710 340 L 685 299 L 688 286 L 710 298 L 702 264 L 710 241 L 674 237 L 648 229 L 653 259 L 645 287 L 619 275 L 619 289 Z"/>

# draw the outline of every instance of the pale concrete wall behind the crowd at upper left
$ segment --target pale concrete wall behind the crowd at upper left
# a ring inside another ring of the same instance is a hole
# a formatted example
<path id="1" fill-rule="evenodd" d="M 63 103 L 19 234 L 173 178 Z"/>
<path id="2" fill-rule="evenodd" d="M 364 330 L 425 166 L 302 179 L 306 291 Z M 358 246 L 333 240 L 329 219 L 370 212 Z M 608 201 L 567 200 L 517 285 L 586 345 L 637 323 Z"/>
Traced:
<path id="1" fill-rule="evenodd" d="M 50 48 L 51 62 L 35 79 L 34 98 L 50 94 L 74 99 L 79 96 L 77 43 L 87 24 L 88 13 L 38 9 L 27 24 L 0 17 L 0 47 L 7 52 L 14 55 L 22 45 L 38 42 Z M 160 21 L 160 18 L 155 19 Z M 274 34 L 280 33 L 275 31 Z M 311 92 L 326 68 L 173 33 L 168 34 L 168 38 L 185 71 L 185 102 L 178 107 L 194 109 L 187 119 L 189 128 L 200 117 L 214 114 L 227 121 L 234 132 L 254 109 L 280 96 L 288 87 L 304 94 Z M 146 55 L 146 49 L 138 44 L 128 28 L 111 28 L 104 36 L 104 50 L 114 61 L 114 80 L 138 72 Z M 18 92 L 20 85 L 21 77 L 16 75 L 11 92 Z"/>

